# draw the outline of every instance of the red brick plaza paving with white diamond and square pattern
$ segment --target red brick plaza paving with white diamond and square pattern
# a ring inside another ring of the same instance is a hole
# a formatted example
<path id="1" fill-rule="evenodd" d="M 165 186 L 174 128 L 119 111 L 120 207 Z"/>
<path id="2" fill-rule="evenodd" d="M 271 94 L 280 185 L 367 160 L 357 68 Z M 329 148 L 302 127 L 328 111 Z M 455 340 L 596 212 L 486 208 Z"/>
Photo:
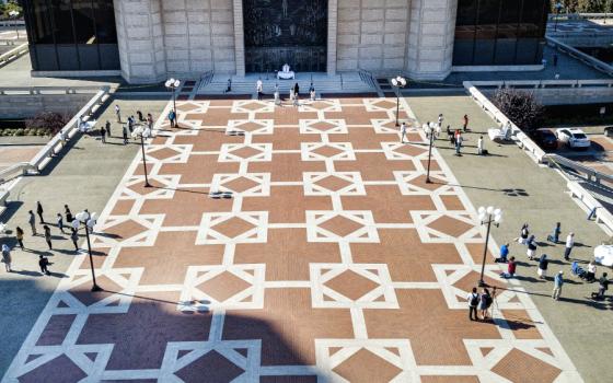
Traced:
<path id="1" fill-rule="evenodd" d="M 138 156 L 106 179 L 118 186 L 93 240 L 105 291 L 74 256 L 22 325 L 7 381 L 580 381 L 539 297 L 491 258 L 495 321 L 467 320 L 484 246 L 474 185 L 458 185 L 444 150 L 425 184 L 425 137 L 400 142 L 393 101 L 178 105 L 181 127 L 161 121 L 147 149 L 152 187 Z"/>

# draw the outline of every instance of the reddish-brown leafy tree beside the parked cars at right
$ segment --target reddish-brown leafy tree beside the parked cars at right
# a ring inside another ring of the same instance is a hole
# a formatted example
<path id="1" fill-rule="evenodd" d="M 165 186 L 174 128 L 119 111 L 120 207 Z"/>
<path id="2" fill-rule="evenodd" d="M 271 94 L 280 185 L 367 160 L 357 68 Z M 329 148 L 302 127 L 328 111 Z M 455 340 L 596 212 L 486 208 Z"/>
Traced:
<path id="1" fill-rule="evenodd" d="M 544 108 L 532 93 L 501 89 L 494 94 L 491 102 L 525 134 L 539 129 L 542 124 Z"/>

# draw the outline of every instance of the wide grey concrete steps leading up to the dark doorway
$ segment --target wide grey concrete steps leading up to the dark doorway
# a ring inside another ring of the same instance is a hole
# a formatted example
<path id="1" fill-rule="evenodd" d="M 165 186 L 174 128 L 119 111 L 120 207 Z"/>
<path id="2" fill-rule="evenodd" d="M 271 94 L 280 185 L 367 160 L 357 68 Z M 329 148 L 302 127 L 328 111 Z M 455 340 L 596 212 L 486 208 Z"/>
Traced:
<path id="1" fill-rule="evenodd" d="M 197 94 L 223 94 L 228 86 L 229 78 L 229 76 L 224 74 L 215 74 L 210 83 L 198 89 Z M 252 97 L 256 97 L 255 84 L 257 79 L 262 79 L 265 94 L 273 94 L 275 84 L 278 84 L 281 95 L 287 96 L 290 88 L 298 82 L 300 93 L 304 97 L 311 86 L 311 81 L 317 95 L 322 93 L 377 93 L 377 89 L 362 81 L 357 72 L 329 77 L 325 73 L 299 73 L 296 80 L 277 80 L 274 73 L 269 73 L 268 79 L 266 74 L 254 73 L 250 73 L 244 78 L 231 78 L 232 92 L 229 95 L 251 94 Z"/>

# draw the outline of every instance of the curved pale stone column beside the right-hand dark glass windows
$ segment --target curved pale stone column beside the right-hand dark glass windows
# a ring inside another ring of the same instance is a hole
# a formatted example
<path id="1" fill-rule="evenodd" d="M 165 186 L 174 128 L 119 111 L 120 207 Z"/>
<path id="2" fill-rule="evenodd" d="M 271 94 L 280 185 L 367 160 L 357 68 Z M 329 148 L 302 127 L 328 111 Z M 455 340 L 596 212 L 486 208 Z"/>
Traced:
<path id="1" fill-rule="evenodd" d="M 458 0 L 412 0 L 406 70 L 417 80 L 451 72 Z"/>

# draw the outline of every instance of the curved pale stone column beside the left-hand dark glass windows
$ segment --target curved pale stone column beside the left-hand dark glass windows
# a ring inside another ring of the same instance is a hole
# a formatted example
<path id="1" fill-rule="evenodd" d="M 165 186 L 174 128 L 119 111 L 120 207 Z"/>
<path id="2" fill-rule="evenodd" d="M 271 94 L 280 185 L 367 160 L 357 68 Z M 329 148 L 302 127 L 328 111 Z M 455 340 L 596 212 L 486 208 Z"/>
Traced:
<path id="1" fill-rule="evenodd" d="M 166 76 L 160 0 L 114 0 L 122 76 L 154 83 Z"/>

